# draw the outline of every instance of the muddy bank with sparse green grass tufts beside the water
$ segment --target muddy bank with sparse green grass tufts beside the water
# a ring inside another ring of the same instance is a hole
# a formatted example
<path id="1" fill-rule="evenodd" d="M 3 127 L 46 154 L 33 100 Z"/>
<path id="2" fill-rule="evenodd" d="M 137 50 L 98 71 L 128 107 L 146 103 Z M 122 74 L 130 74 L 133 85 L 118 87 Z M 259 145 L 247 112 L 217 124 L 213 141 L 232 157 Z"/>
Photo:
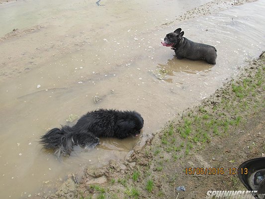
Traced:
<path id="1" fill-rule="evenodd" d="M 201 199 L 209 190 L 245 190 L 229 169 L 265 153 L 265 55 L 198 106 L 189 108 L 123 162 L 88 168 L 45 199 Z M 186 168 L 212 168 L 204 175 Z M 223 170 L 223 174 L 218 171 Z M 183 187 L 181 187 L 183 186 Z M 185 191 L 178 191 L 184 189 Z"/>

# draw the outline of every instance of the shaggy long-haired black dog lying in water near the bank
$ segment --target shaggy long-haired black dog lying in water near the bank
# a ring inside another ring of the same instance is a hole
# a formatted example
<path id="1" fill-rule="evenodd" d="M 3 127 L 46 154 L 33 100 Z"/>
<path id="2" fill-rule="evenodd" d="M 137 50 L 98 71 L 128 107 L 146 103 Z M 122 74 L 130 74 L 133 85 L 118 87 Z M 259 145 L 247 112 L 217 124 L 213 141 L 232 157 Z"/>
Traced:
<path id="1" fill-rule="evenodd" d="M 39 143 L 45 149 L 53 149 L 57 156 L 70 155 L 75 145 L 94 147 L 98 137 L 123 139 L 138 135 L 144 119 L 136 111 L 99 109 L 83 115 L 78 122 L 62 128 L 53 128 L 41 136 Z"/>

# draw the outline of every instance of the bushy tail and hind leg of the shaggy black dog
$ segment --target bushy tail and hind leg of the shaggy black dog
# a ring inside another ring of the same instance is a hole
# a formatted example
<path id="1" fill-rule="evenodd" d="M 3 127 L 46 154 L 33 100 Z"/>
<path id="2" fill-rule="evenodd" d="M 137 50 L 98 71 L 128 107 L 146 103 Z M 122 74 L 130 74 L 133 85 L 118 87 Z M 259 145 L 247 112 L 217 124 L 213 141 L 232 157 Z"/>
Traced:
<path id="1" fill-rule="evenodd" d="M 39 143 L 45 149 L 53 149 L 56 156 L 70 155 L 75 145 L 95 146 L 99 139 L 87 131 L 76 131 L 73 127 L 53 128 L 40 137 Z"/>

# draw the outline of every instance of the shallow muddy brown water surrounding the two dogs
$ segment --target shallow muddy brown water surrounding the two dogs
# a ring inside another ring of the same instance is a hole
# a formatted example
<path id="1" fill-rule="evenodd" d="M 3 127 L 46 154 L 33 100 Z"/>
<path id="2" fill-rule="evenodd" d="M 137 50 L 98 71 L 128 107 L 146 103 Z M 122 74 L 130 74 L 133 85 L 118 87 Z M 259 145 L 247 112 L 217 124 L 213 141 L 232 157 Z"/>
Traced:
<path id="1" fill-rule="evenodd" d="M 60 186 L 86 166 L 123 159 L 138 139 L 209 96 L 265 49 L 265 0 L 170 26 L 209 0 L 28 0 L 0 4 L 0 195 L 28 198 Z M 177 60 L 161 39 L 181 27 L 187 38 L 214 45 L 217 64 Z M 96 108 L 134 109 L 143 134 L 76 147 L 68 158 L 42 150 L 38 137 Z"/>

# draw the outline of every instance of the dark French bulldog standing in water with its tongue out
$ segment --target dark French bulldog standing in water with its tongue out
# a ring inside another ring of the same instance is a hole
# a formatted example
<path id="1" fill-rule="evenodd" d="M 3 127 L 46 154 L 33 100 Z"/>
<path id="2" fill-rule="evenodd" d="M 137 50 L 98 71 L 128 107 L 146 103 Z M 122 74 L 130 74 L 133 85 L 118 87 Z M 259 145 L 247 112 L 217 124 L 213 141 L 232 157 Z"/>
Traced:
<path id="1" fill-rule="evenodd" d="M 209 64 L 216 64 L 217 50 L 215 47 L 196 43 L 183 37 L 184 32 L 181 32 L 181 28 L 177 28 L 174 32 L 166 35 L 164 41 L 161 42 L 163 46 L 171 46 L 171 49 L 175 50 L 177 59 L 183 57 L 191 60 L 205 60 Z"/>

